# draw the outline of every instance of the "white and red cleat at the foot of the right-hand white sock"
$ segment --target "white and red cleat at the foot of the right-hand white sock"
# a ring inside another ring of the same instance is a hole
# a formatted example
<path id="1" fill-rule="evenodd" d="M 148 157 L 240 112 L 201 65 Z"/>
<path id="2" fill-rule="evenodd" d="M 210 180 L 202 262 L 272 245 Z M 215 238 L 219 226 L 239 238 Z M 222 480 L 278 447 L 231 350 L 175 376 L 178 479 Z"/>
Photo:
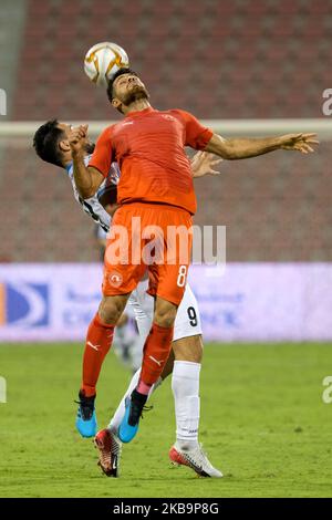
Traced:
<path id="1" fill-rule="evenodd" d="M 169 450 L 169 459 L 174 466 L 188 466 L 199 477 L 221 478 L 222 474 L 214 468 L 201 449 L 201 445 L 190 450 L 179 449 L 174 445 Z"/>

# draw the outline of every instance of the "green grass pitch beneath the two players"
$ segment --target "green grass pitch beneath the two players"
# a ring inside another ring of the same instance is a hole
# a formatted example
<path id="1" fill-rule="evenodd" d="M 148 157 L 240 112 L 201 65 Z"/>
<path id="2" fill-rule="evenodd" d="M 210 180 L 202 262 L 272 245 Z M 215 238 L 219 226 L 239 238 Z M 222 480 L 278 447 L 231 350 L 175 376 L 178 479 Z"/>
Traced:
<path id="1" fill-rule="evenodd" d="M 170 379 L 124 447 L 122 476 L 96 467 L 90 439 L 74 428 L 82 345 L 1 345 L 0 497 L 331 497 L 331 344 L 206 346 L 200 440 L 224 479 L 173 468 Z M 128 382 L 110 353 L 97 396 L 103 427 Z"/>

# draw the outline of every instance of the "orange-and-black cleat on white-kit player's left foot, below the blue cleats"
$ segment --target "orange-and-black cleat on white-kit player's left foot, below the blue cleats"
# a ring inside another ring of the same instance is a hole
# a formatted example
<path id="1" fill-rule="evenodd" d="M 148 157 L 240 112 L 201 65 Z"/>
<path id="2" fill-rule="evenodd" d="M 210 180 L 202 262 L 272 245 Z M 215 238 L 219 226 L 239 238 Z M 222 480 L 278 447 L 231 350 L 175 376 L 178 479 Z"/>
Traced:
<path id="1" fill-rule="evenodd" d="M 118 477 L 122 443 L 110 429 L 102 429 L 94 438 L 98 450 L 98 466 L 107 477 Z"/>

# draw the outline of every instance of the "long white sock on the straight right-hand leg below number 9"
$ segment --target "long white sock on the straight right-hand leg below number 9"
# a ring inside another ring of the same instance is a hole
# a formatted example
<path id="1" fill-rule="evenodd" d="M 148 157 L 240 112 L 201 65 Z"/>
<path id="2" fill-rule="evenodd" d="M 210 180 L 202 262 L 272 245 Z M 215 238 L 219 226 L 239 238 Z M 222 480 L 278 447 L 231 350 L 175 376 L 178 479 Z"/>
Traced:
<path id="1" fill-rule="evenodd" d="M 193 449 L 198 445 L 200 364 L 175 361 L 172 389 L 175 401 L 176 447 Z"/>

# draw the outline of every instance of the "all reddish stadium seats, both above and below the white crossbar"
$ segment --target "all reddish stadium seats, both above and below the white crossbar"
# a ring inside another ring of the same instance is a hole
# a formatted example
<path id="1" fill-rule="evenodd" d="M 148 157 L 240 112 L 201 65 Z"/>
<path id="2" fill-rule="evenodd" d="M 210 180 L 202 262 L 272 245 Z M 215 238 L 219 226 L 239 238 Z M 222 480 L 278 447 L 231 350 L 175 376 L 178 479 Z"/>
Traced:
<path id="1" fill-rule="evenodd" d="M 158 108 L 216 119 L 320 117 L 331 86 L 330 9 L 323 0 L 30 0 L 13 119 L 116 118 L 82 72 L 85 51 L 104 40 L 127 50 Z M 19 229 L 1 230 L 1 260 L 97 258 L 93 223 L 60 170 L 17 145 L 1 169 L 2 211 Z M 331 260 L 328 144 L 310 158 L 276 153 L 221 169 L 221 178 L 197 181 L 196 221 L 227 225 L 228 260 Z"/>

